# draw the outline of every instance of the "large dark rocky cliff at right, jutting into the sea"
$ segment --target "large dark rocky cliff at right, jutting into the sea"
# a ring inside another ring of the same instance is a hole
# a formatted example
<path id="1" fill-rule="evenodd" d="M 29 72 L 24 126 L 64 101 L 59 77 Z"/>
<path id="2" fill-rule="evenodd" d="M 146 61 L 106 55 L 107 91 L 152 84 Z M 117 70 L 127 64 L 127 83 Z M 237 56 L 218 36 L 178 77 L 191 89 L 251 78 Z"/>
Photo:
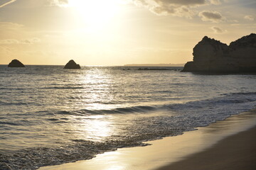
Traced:
<path id="1" fill-rule="evenodd" d="M 187 62 L 182 72 L 256 72 L 256 34 L 230 45 L 205 36 L 193 48 L 193 62 Z"/>

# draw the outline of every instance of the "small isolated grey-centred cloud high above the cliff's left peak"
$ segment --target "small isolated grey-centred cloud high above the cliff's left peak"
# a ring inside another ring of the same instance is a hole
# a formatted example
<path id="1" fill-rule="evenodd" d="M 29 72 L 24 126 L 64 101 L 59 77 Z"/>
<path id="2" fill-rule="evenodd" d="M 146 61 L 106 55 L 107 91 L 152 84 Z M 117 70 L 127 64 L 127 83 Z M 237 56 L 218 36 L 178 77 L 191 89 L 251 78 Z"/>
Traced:
<path id="1" fill-rule="evenodd" d="M 223 21 L 223 16 L 217 11 L 201 11 L 198 16 L 200 16 L 203 21 L 211 21 L 213 23 Z"/>

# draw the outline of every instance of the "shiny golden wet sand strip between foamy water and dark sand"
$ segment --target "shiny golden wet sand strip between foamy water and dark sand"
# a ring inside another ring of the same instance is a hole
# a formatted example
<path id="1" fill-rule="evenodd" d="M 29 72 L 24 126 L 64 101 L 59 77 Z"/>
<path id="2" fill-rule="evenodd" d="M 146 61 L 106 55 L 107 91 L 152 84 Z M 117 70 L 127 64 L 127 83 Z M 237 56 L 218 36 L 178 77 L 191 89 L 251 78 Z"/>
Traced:
<path id="1" fill-rule="evenodd" d="M 183 167 L 183 163 L 179 162 L 186 162 L 190 160 L 191 157 L 194 157 L 194 155 L 207 152 L 209 149 L 219 145 L 223 140 L 240 135 L 240 132 L 248 132 L 252 135 L 253 132 L 255 132 L 251 131 L 252 127 L 254 127 L 253 130 L 256 130 L 256 110 L 231 115 L 225 120 L 212 123 L 206 127 L 200 127 L 198 130 L 184 132 L 183 135 L 164 137 L 164 139 L 161 140 L 146 142 L 151 144 L 150 146 L 121 148 L 114 152 L 98 154 L 95 158 L 90 160 L 55 166 L 43 166 L 39 170 L 186 169 Z M 236 137 L 235 139 L 240 141 L 240 137 Z M 248 139 L 251 140 L 251 138 Z M 252 140 L 252 142 L 254 141 L 255 140 Z M 218 150 L 218 154 L 220 154 L 220 152 L 221 150 Z M 208 154 L 211 153 L 212 152 Z M 202 158 L 198 159 L 197 164 L 190 164 L 188 167 L 197 169 L 197 166 L 200 165 L 202 161 Z M 173 167 L 174 165 L 175 167 Z M 213 169 L 215 169 L 214 167 Z"/>

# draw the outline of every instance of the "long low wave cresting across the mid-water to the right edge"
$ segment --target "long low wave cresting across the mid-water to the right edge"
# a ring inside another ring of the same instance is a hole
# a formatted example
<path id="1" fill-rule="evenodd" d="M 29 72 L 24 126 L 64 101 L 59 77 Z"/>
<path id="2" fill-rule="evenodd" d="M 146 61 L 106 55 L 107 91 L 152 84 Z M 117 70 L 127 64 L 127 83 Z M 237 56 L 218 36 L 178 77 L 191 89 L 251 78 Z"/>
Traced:
<path id="1" fill-rule="evenodd" d="M 61 115 L 105 115 L 105 114 L 127 114 L 127 113 L 149 113 L 151 111 L 163 111 L 163 110 L 185 110 L 187 108 L 210 108 L 220 107 L 225 105 L 250 103 L 256 101 L 256 92 L 249 93 L 234 93 L 234 94 L 222 94 L 216 98 L 205 99 L 201 101 L 189 101 L 187 103 L 172 103 L 164 105 L 151 105 L 151 106 L 131 106 L 124 108 L 113 108 L 110 110 L 89 110 L 81 109 L 78 111 L 58 111 Z"/>

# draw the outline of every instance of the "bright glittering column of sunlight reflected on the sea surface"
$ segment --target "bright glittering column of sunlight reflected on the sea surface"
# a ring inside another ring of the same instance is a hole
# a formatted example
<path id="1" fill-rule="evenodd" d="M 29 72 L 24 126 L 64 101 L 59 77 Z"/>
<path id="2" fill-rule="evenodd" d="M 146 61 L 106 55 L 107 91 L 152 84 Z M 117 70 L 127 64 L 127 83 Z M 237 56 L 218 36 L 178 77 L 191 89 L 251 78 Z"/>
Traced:
<path id="1" fill-rule="evenodd" d="M 120 132 L 117 116 L 105 113 L 121 107 L 117 102 L 113 103 L 116 101 L 114 88 L 117 88 L 117 79 L 120 77 L 112 70 L 97 67 L 88 67 L 78 77 L 73 77 L 75 86 L 80 87 L 73 93 L 77 99 L 70 103 L 71 111 L 78 113 L 72 116 L 71 129 L 75 132 L 75 139 L 100 142 Z"/>

